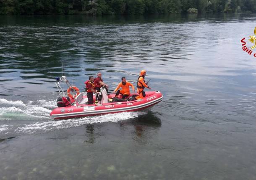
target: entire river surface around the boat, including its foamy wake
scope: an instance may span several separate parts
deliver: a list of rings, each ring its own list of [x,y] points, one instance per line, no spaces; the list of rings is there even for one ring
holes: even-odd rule
[[[0,16],[0,179],[256,179],[255,14]],[[256,50],[253,50],[256,53]],[[56,121],[55,77],[114,89],[147,71],[144,112]]]

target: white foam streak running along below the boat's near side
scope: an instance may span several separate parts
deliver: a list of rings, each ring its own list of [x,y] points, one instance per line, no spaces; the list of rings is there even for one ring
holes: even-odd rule
[[[106,114],[97,117],[84,117],[82,119],[37,122],[33,124],[27,124],[25,127],[18,127],[16,130],[22,133],[34,134],[36,132],[48,132],[56,129],[78,127],[84,124],[92,124],[97,122],[118,122],[134,117],[138,117],[138,112],[121,112],[117,114]]]

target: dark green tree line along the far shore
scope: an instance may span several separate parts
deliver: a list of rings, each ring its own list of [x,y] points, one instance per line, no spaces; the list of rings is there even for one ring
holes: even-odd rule
[[[256,0],[0,0],[0,15],[256,13]]]

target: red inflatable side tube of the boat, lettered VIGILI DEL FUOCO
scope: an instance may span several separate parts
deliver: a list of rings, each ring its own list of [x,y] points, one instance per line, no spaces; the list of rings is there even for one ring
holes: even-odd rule
[[[98,105],[78,105],[70,107],[58,107],[50,113],[54,119],[70,119],[76,117],[96,116],[101,114],[113,114],[120,112],[135,112],[148,109],[162,101],[159,91],[146,92],[146,97],[135,101],[112,102]]]

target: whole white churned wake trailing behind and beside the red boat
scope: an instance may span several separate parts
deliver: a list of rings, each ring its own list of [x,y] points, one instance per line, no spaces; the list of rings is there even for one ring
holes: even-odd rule
[[[8,101],[0,99],[0,134],[38,134],[84,124],[118,122],[138,117],[142,112],[121,112],[96,117],[53,120],[51,109],[56,100]]]

